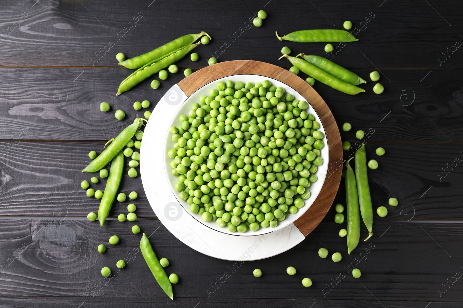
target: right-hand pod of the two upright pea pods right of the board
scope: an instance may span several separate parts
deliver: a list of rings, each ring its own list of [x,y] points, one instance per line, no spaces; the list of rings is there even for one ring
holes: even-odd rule
[[[370,187],[368,185],[367,174],[367,153],[365,145],[355,152],[355,178],[357,179],[358,201],[360,212],[362,213],[363,223],[368,229],[368,240],[373,235],[373,207],[371,205]]]

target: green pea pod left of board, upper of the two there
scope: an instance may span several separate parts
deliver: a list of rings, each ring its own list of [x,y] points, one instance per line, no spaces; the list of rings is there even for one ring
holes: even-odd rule
[[[97,172],[103,169],[127,144],[127,142],[132,139],[135,132],[137,132],[140,122],[143,121],[142,118],[137,118],[138,121],[133,121],[131,125],[125,127],[119,135],[114,138],[113,142],[101,152],[101,154],[96,157],[92,162],[88,164],[82,172]]]

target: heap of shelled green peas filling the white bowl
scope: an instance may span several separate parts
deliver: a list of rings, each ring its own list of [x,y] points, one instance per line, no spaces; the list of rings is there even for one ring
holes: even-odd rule
[[[275,228],[317,181],[320,124],[307,102],[269,80],[216,87],[170,128],[175,190],[190,211],[231,232]]]

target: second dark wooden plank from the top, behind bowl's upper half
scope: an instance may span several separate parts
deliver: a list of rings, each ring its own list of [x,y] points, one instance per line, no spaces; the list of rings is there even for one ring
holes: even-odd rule
[[[364,78],[369,70],[354,70]],[[463,89],[463,70],[387,70],[380,79],[386,90],[377,95],[369,82],[366,93],[350,96],[317,82],[314,89],[328,104],[338,126],[352,124],[341,132],[343,139],[355,139],[355,132],[375,131],[378,142],[448,143],[463,140],[458,129],[462,110],[458,93]],[[144,109],[132,108],[135,101],[150,100],[152,106],[184,76],[169,74],[159,89],[152,79],[119,97],[117,87],[126,69],[0,68],[0,139],[108,140],[120,132]],[[302,79],[307,76],[300,74]],[[100,103],[112,106],[100,112]],[[124,121],[113,113],[122,109]],[[450,140],[450,141],[449,141]]]

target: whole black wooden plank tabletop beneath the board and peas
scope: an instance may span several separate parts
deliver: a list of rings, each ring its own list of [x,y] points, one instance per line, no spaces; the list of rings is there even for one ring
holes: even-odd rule
[[[0,307],[463,307],[463,42],[461,1],[207,1],[2,0],[0,4]],[[268,18],[249,23],[258,10]],[[135,21],[136,20],[136,21]],[[116,203],[104,228],[86,216],[99,201],[80,182],[91,150],[100,151],[142,112],[132,103],[156,103],[183,69],[252,59],[288,67],[280,49],[326,56],[324,43],[280,42],[294,30],[342,29],[360,39],[331,57],[364,79],[378,70],[385,91],[348,96],[319,82],[341,132],[371,131],[367,152],[386,149],[371,170],[374,208],[389,196],[387,217],[375,214],[375,235],[347,255],[334,208],[307,239],[275,257],[241,263],[189,248],[156,219],[140,178],[126,175],[121,190],[138,191],[138,225],[156,253],[180,276],[175,301],[158,287],[137,250],[130,223],[115,220],[129,203]],[[198,62],[178,63],[159,89],[146,80],[116,97],[130,72],[115,55],[142,54],[178,36],[205,30],[213,40],[195,49]],[[335,47],[338,45],[335,44]],[[300,74],[301,78],[307,76]],[[118,121],[100,102],[122,109]],[[350,155],[344,152],[345,156]],[[459,180],[460,179],[460,180]],[[101,181],[100,189],[104,188]],[[343,182],[344,183],[344,182]],[[97,185],[97,186],[98,186]],[[345,204],[344,188],[336,203]],[[345,227],[345,223],[344,226]],[[363,234],[366,232],[362,230]],[[118,234],[119,245],[96,247]],[[343,253],[333,263],[320,247]],[[117,248],[117,249],[116,249]],[[127,266],[117,272],[117,260]],[[355,279],[350,266],[361,269]],[[109,265],[111,279],[100,275]],[[295,266],[296,276],[285,273]],[[252,275],[254,268],[261,278]],[[313,281],[310,288],[301,279]]]

